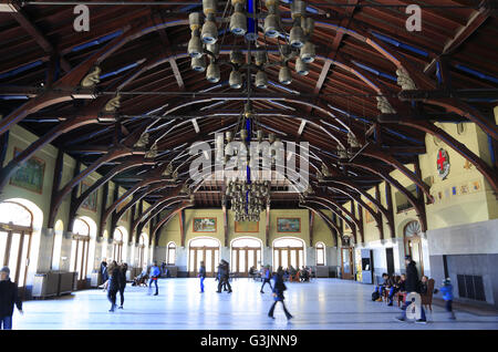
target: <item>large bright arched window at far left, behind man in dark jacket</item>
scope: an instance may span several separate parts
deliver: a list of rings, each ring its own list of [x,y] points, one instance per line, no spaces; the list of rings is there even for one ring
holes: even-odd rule
[[[8,266],[10,278],[24,288],[30,263],[33,215],[14,201],[0,203],[0,265]]]

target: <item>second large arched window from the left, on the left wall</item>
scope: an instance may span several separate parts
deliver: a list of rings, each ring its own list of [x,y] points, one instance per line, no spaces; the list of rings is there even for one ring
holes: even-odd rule
[[[90,225],[77,218],[73,225],[73,240],[71,246],[70,270],[77,271],[79,288],[84,286],[86,280],[90,246]]]

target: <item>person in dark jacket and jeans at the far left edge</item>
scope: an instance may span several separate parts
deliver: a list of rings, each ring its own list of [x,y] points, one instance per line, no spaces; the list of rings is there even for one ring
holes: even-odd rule
[[[18,296],[18,286],[10,281],[10,269],[3,267],[0,270],[0,329],[12,329],[13,306],[22,314],[22,302]]]

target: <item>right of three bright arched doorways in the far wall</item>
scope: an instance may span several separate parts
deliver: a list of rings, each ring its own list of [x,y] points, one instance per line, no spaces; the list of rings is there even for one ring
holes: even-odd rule
[[[299,269],[304,266],[304,241],[299,238],[279,238],[273,241],[273,269]]]

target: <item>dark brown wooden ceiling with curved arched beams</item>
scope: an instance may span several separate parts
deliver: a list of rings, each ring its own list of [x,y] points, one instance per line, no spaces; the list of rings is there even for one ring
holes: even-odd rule
[[[186,6],[187,2],[193,6]],[[221,66],[221,81],[217,85],[208,83],[204,73],[190,69],[186,55],[190,37],[187,17],[191,11],[200,11],[201,1],[185,3],[91,6],[91,30],[81,33],[73,30],[75,15],[70,6],[27,4],[17,6],[13,13],[0,12],[0,114],[13,118],[30,106],[27,104],[41,100],[48,92],[74,93],[87,73],[82,66],[97,59],[102,77],[94,91],[96,100],[63,99],[37,105],[15,123],[43,137],[66,121],[91,116],[91,123],[69,127],[51,141],[84,165],[102,158],[111,145],[116,147],[116,141],[127,141],[127,147],[132,147],[144,128],[154,124],[149,141],[163,137],[154,163],[137,164],[110,177],[132,189],[144,175],[177,157],[181,146],[212,138],[215,131],[232,126],[243,107],[242,99],[224,100],[245,96],[241,90],[228,87],[228,66]],[[496,149],[497,131],[491,111],[498,100],[498,20],[494,1],[425,0],[421,2],[421,32],[405,29],[407,4],[408,1],[401,0],[313,1],[312,8],[318,13],[310,15],[317,23],[312,41],[318,58],[310,64],[309,75],[299,76],[293,72],[293,82],[282,89],[278,84],[278,70],[271,68],[267,73],[277,84],[270,84],[267,90],[253,89],[253,95],[261,97],[253,106],[262,130],[277,131],[283,141],[310,142],[317,157],[315,167],[324,163],[336,179],[350,177],[359,193],[383,180],[369,168],[387,174],[397,165],[416,163],[417,155],[425,153],[425,134],[440,132],[434,127],[435,121],[477,118],[487,128]],[[284,2],[281,11],[289,11]],[[261,33],[258,42],[276,44]],[[221,51],[227,53],[231,45],[242,44],[240,39],[227,34]],[[270,59],[276,59],[274,53],[270,53]],[[398,99],[402,87],[396,82],[396,70],[400,68],[406,69],[418,90],[424,90],[418,93],[425,94],[425,102]],[[73,76],[80,77],[76,83],[68,79]],[[64,84],[60,84],[61,79],[65,80]],[[117,90],[122,99],[114,115],[116,122],[98,121],[102,104],[114,97],[113,92]],[[378,123],[377,94],[388,96],[398,113],[391,118],[401,118],[400,123]],[[263,100],[268,96],[274,101]],[[442,106],[433,104],[434,100],[455,96],[461,103],[456,112],[443,103]],[[193,118],[199,133],[188,122]],[[302,121],[305,125],[300,132]],[[4,134],[10,126],[3,121],[0,133]],[[336,153],[338,144],[347,141],[347,130],[363,143],[371,143],[351,165],[341,163]],[[496,165],[486,165],[457,141],[445,141],[479,166],[496,189]],[[125,159],[114,158],[96,165],[95,169],[106,175]],[[3,178],[6,175],[7,172]],[[344,193],[320,186],[315,173],[312,176],[313,187],[328,193],[338,204],[351,199]],[[279,190],[283,189],[274,189],[272,207],[298,206],[297,194],[283,195]],[[158,188],[143,199],[154,204],[162,193],[164,189]],[[220,188],[200,187],[195,199],[198,207],[219,207]]]

